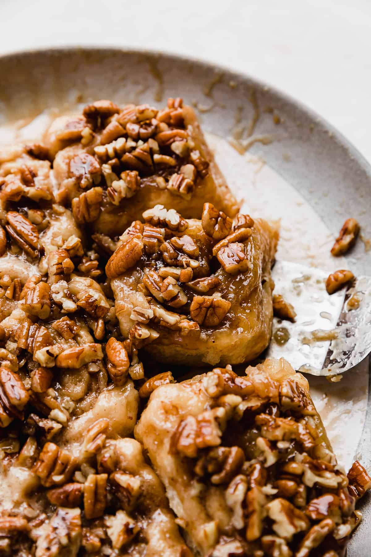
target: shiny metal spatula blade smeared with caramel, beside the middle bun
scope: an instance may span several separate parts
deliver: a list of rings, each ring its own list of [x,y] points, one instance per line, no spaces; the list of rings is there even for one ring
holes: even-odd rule
[[[303,373],[338,375],[371,352],[371,277],[329,295],[326,271],[278,261],[272,274],[274,293],[297,315],[294,323],[274,317],[267,356],[284,357]]]

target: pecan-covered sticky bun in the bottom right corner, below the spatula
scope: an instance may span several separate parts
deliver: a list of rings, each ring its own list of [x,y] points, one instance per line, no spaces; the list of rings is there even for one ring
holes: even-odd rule
[[[356,469],[371,485],[359,463],[348,477],[337,465],[308,382],[283,359],[161,385],[135,437],[202,556],[343,555]]]

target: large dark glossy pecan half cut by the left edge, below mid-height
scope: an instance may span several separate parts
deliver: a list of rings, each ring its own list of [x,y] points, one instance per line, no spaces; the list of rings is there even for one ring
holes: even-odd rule
[[[0,425],[6,427],[12,418],[23,418],[29,395],[22,379],[8,367],[0,367]]]

